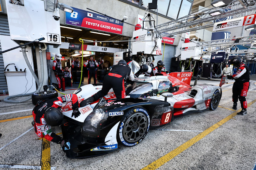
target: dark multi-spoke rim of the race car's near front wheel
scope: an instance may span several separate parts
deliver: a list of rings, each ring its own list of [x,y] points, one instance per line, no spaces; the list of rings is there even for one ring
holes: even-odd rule
[[[148,120],[142,113],[132,114],[124,124],[124,138],[128,142],[139,140],[147,130]]]

